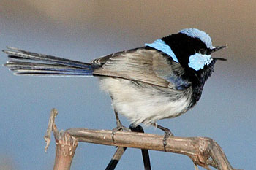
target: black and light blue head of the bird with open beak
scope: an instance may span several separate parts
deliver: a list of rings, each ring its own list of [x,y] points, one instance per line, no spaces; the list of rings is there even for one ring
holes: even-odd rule
[[[227,45],[214,47],[211,37],[197,28],[183,29],[178,34],[165,36],[146,46],[170,55],[173,61],[195,72],[206,69],[212,61],[225,60],[224,58],[211,58],[211,53],[227,47]]]

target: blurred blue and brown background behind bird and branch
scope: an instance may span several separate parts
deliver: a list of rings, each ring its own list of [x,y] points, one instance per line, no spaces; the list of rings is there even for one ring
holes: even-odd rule
[[[161,120],[176,136],[216,140],[236,169],[255,169],[256,1],[0,1],[0,49],[6,45],[78,61],[141,47],[183,28],[210,34],[218,62],[197,106]],[[7,61],[1,53],[0,63]],[[110,97],[96,78],[16,77],[0,66],[0,169],[53,169],[55,144],[44,152],[50,109],[59,129],[112,129]],[[129,126],[125,117],[124,125]],[[155,128],[146,133],[163,134]],[[72,169],[105,169],[115,147],[80,143]],[[150,151],[152,169],[194,169],[187,156]],[[143,169],[127,149],[116,169]]]

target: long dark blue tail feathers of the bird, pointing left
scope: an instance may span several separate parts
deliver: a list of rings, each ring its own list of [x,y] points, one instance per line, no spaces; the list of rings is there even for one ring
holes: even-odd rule
[[[10,61],[4,64],[17,75],[89,77],[97,66],[51,55],[31,53],[14,47],[3,50]]]

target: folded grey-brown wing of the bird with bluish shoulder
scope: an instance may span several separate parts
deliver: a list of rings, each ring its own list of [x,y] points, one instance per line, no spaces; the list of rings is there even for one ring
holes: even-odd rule
[[[91,61],[102,66],[94,70],[96,75],[121,77],[165,88],[181,87],[180,84],[184,82],[181,82],[178,72],[182,74],[184,71],[179,63],[173,65],[170,62],[174,63],[159,51],[142,48],[114,53]]]

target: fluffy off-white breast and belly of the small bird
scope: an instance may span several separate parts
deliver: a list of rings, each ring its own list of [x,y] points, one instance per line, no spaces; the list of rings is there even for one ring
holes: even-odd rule
[[[189,109],[192,100],[192,88],[173,90],[111,77],[100,80],[101,88],[113,98],[113,108],[134,125],[150,125],[181,115]]]

